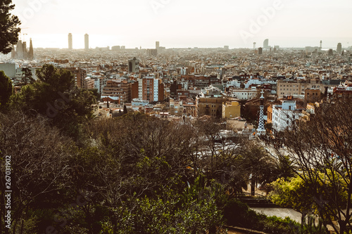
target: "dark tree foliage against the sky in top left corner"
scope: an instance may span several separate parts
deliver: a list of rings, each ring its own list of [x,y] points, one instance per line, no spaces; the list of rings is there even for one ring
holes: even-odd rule
[[[17,16],[11,15],[10,11],[15,8],[11,0],[0,2],[0,53],[10,53],[12,45],[18,41],[20,33],[20,20]]]

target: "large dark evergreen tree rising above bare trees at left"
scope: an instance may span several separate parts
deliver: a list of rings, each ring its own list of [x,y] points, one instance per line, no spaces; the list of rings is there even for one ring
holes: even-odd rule
[[[45,115],[70,136],[77,136],[80,124],[92,114],[96,103],[93,93],[78,89],[70,71],[53,65],[43,65],[37,70],[37,77],[37,82],[24,86],[13,96],[13,106],[27,114]]]

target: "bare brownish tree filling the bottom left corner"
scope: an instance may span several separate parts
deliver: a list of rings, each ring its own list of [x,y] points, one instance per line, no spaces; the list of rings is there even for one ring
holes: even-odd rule
[[[61,203],[73,143],[46,124],[44,118],[12,111],[0,114],[0,123],[1,188],[5,188],[4,159],[11,158],[11,233],[38,233],[23,228],[35,218],[31,215],[33,209],[49,209]],[[0,213],[4,216],[2,189],[0,196]],[[0,227],[4,227],[3,223]]]

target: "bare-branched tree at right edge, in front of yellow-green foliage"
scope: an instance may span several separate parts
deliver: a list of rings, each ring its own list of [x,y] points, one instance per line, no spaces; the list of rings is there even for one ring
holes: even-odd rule
[[[279,157],[289,155],[297,176],[312,188],[310,197],[324,205],[320,218],[336,220],[344,233],[351,226],[352,209],[352,96],[342,96],[315,108],[308,122],[294,122],[282,136],[285,148]],[[341,193],[341,190],[344,193]],[[344,194],[346,197],[341,197]],[[325,202],[318,197],[325,195]]]

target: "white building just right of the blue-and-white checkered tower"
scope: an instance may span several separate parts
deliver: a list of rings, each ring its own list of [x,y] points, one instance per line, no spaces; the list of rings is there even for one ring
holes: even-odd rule
[[[282,105],[272,105],[272,129],[275,133],[284,131],[301,115],[302,112],[296,109],[295,100],[284,100]]]

